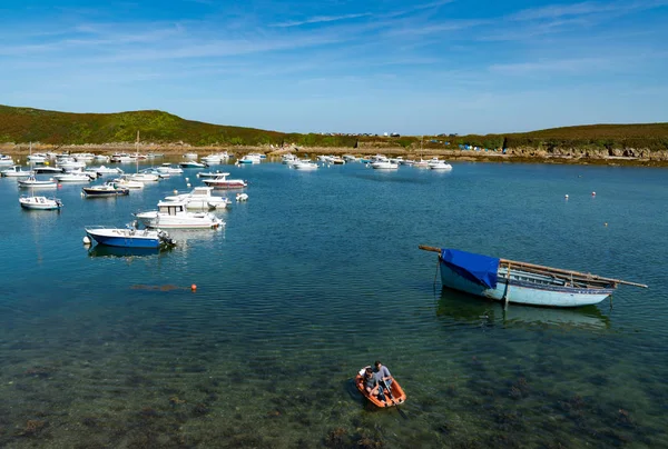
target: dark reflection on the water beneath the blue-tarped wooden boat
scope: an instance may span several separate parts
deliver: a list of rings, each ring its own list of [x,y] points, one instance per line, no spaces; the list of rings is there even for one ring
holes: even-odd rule
[[[438,293],[436,293],[438,295]],[[436,316],[484,326],[537,327],[601,330],[610,327],[609,318],[597,306],[578,309],[552,309],[509,305],[485,300],[444,287],[436,298]]]

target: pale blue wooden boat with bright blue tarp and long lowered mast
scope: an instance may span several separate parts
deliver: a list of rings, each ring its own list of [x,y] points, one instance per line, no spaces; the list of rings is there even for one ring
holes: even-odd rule
[[[601,302],[621,283],[647,288],[642,283],[456,249],[424,245],[419,248],[439,253],[444,287],[507,305],[581,307]]]

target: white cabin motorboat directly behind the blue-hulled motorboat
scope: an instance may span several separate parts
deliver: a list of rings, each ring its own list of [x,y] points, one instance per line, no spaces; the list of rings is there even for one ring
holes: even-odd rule
[[[160,201],[158,210],[136,213],[147,228],[205,229],[219,228],[225,221],[210,212],[188,212],[185,201]]]

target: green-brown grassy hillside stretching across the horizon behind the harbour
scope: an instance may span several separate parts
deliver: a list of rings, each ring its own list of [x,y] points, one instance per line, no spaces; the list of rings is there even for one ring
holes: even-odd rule
[[[355,137],[299,134],[254,128],[228,127],[184,120],[163,111],[118,113],[70,113],[0,106],[0,142],[29,141],[52,144],[132,142],[137,130],[141,141],[178,142],[193,146],[259,146],[296,143],[304,147],[420,147],[420,137]],[[591,124],[532,132],[485,136],[428,137],[424,148],[647,148],[668,150],[668,123]],[[445,144],[449,142],[449,144]]]

